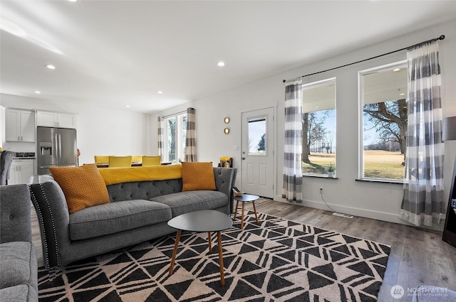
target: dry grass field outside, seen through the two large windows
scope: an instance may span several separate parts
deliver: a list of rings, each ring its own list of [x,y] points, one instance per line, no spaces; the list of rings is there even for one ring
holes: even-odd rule
[[[326,174],[326,166],[336,163],[336,154],[311,153],[311,163],[302,164],[303,173]],[[402,179],[404,173],[403,154],[399,152],[367,150],[364,151],[364,176],[371,178]],[[336,164],[337,173],[337,164]]]

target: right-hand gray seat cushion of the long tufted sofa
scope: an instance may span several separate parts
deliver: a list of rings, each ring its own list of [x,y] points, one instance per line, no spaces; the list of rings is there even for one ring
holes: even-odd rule
[[[150,200],[163,203],[171,208],[172,217],[187,212],[215,210],[228,204],[228,196],[219,191],[198,190],[167,194]]]

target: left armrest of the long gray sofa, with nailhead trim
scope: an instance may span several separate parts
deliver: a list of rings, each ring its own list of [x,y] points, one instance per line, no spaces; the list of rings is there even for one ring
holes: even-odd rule
[[[66,198],[50,175],[33,176],[29,187],[41,230],[46,269],[53,269],[61,266],[60,250],[71,244]]]

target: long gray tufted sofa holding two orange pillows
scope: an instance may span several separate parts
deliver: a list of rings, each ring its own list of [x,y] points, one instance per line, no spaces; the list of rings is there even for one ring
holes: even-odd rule
[[[182,178],[107,185],[110,203],[69,214],[52,176],[34,176],[31,199],[48,270],[175,232],[172,217],[197,210],[232,212],[235,168],[214,168],[216,190],[182,192]]]

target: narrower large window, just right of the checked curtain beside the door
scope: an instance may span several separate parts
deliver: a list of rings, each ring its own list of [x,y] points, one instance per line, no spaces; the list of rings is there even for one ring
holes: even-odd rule
[[[336,166],[336,78],[303,85],[302,173],[326,175]]]

